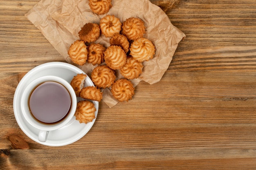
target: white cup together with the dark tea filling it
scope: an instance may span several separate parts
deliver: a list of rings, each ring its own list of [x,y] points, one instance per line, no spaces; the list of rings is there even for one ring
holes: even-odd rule
[[[47,140],[48,132],[69,123],[76,111],[76,94],[65,79],[43,76],[23,91],[22,114],[31,126],[39,129],[38,139]]]

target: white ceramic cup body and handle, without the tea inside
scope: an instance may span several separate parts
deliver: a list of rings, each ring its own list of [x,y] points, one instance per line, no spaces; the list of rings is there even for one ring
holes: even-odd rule
[[[63,85],[67,89],[68,93],[70,94],[70,98],[71,98],[70,109],[67,115],[56,123],[43,123],[38,121],[31,114],[29,109],[29,98],[31,96],[31,93],[35,90],[36,87],[38,87],[40,84],[44,82],[57,82]],[[57,130],[65,126],[74,117],[74,114],[76,111],[77,99],[76,99],[76,94],[74,92],[74,89],[72,88],[69,82],[67,82],[65,79],[62,79],[61,77],[48,75],[48,76],[39,77],[33,80],[31,83],[29,83],[29,85],[25,88],[25,90],[22,93],[20,102],[21,102],[21,109],[22,109],[23,116],[31,126],[39,129],[38,140],[41,142],[45,142],[47,140],[49,131]]]

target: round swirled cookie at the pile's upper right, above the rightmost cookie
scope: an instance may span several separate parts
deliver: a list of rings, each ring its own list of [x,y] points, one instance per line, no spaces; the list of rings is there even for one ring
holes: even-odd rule
[[[124,21],[122,25],[121,33],[125,35],[128,40],[136,40],[138,38],[143,37],[146,32],[146,27],[144,26],[144,22],[135,17],[128,18]]]

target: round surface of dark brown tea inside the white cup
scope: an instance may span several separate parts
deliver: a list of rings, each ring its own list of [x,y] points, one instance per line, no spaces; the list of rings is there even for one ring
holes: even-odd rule
[[[44,82],[37,86],[29,98],[31,114],[44,123],[54,123],[69,112],[71,97],[67,89],[57,82]]]

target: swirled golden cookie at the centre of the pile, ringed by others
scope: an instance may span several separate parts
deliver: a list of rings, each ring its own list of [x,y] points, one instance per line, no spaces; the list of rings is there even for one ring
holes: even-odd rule
[[[104,60],[111,69],[118,70],[126,63],[126,53],[121,46],[109,46],[104,52]]]

